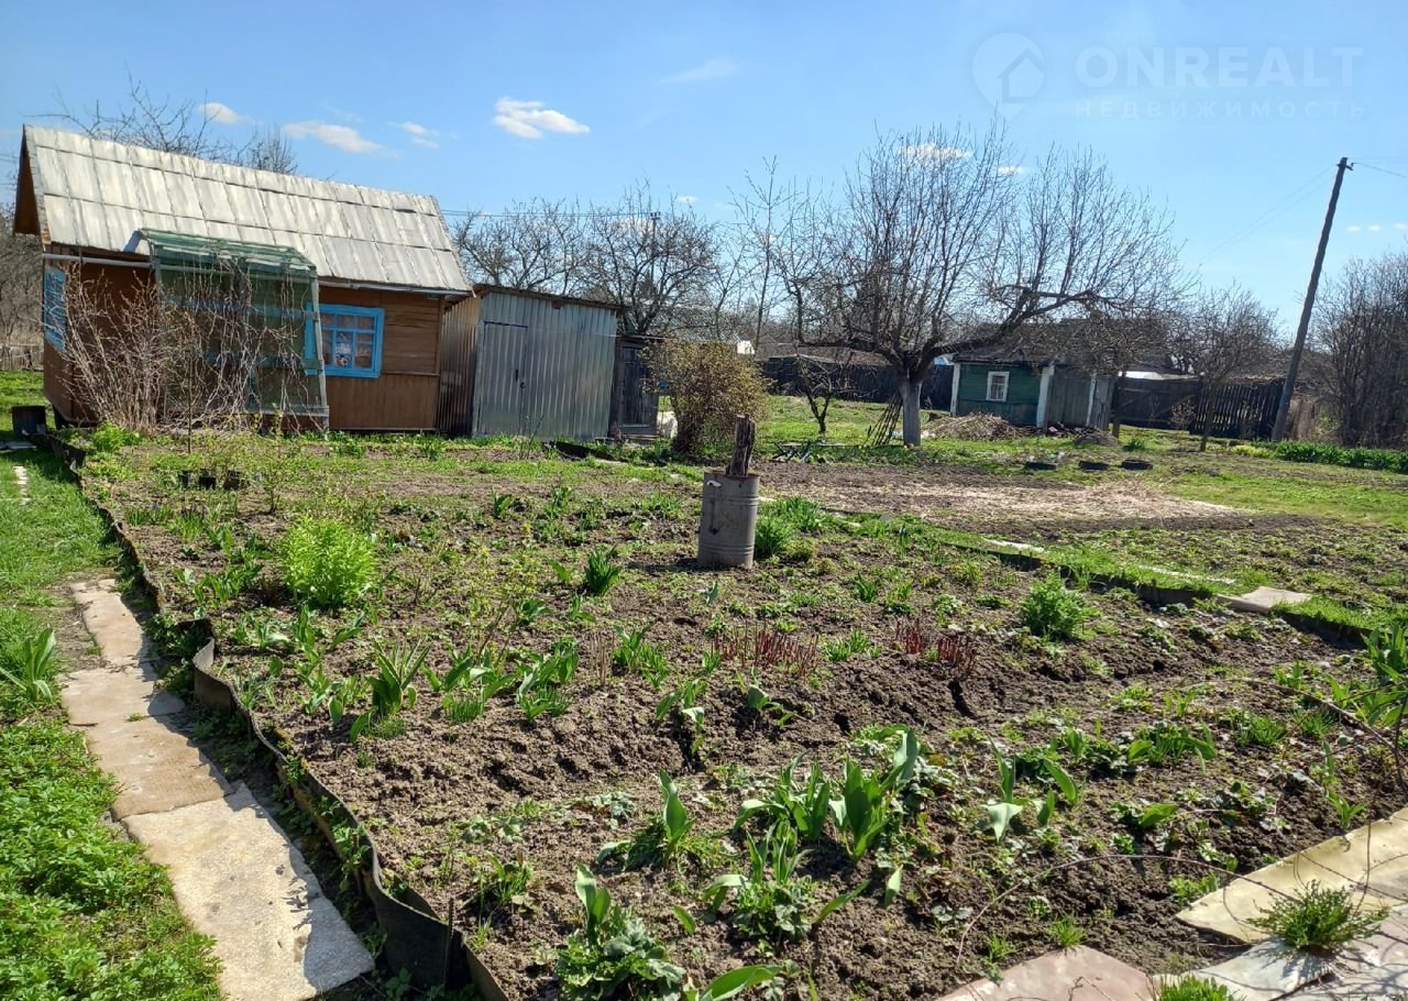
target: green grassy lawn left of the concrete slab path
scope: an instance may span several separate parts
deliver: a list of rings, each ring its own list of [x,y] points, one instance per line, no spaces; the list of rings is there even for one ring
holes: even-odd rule
[[[13,463],[30,473],[28,505]],[[54,588],[114,559],[61,463],[0,459],[0,669],[34,667],[28,686],[0,679],[0,997],[215,1001],[208,942],[186,926],[161,867],[104,819],[117,791],[63,724],[59,665],[25,649],[55,618]]]

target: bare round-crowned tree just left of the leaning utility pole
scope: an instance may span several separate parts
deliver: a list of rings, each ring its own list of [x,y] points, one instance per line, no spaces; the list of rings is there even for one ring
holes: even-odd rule
[[[1215,390],[1271,355],[1276,314],[1238,286],[1205,291],[1180,317],[1170,348],[1176,363],[1202,380],[1204,391]],[[1207,451],[1211,434],[1211,421],[1204,421],[1200,451]]]

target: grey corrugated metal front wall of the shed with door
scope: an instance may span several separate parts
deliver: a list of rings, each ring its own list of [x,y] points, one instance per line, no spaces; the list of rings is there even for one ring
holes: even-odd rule
[[[487,293],[476,325],[470,434],[604,438],[615,334],[608,308]]]

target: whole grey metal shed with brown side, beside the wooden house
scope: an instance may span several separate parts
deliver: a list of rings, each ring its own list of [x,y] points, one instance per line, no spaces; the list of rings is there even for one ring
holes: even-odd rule
[[[618,380],[614,306],[501,286],[445,318],[439,427],[489,438],[605,438]],[[653,427],[653,407],[652,407]]]

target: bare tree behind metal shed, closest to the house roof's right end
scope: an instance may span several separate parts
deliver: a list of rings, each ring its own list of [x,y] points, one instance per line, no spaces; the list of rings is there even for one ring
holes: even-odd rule
[[[455,227],[465,270],[480,282],[569,296],[583,280],[586,213],[574,201],[517,201]]]

